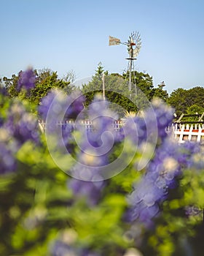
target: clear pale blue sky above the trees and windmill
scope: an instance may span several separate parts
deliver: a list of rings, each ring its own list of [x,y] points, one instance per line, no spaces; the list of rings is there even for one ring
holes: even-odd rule
[[[89,78],[98,63],[109,72],[127,69],[125,45],[109,46],[109,35],[126,42],[141,34],[135,62],[140,72],[178,87],[204,86],[203,0],[0,0],[0,76],[28,66],[62,77]]]

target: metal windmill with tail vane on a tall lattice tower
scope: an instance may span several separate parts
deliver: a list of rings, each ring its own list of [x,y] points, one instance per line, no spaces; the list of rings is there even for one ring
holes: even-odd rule
[[[127,42],[121,42],[120,39],[116,37],[109,36],[109,45],[127,45],[127,52],[129,53],[129,57],[126,58],[128,60],[128,67],[129,70],[129,86],[128,89],[131,91],[132,89],[132,71],[134,71],[134,61],[136,60],[136,56],[141,49],[141,37],[138,32],[134,31],[130,34]],[[137,93],[137,92],[136,92]]]

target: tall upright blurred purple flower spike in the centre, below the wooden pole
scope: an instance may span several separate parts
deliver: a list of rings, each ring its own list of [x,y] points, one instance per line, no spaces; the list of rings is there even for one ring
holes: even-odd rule
[[[92,131],[78,126],[82,140],[78,142],[80,150],[76,155],[77,163],[71,171],[76,179],[69,181],[68,186],[75,195],[86,196],[90,205],[97,203],[101,197],[105,184],[103,167],[109,164],[109,154],[115,143],[116,132],[113,124],[116,116],[108,106],[108,102],[96,97],[89,109]]]

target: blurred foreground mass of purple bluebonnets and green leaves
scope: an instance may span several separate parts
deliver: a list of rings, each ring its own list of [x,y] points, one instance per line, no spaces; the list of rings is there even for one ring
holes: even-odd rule
[[[41,132],[28,99],[0,100],[1,255],[202,255],[203,147],[166,131],[171,108],[154,100],[116,131],[95,97],[85,129],[84,97],[52,89]]]

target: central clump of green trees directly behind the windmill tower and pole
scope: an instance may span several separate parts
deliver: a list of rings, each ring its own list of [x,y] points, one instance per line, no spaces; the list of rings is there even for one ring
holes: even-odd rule
[[[138,112],[138,110],[148,108],[149,101],[153,97],[160,98],[164,101],[168,99],[168,93],[162,86],[154,88],[152,77],[149,74],[136,71],[132,72],[131,91],[129,91],[129,72],[123,72],[122,75],[117,73],[109,74],[108,71],[104,71],[100,62],[90,83],[84,84],[82,87],[82,92],[87,99],[86,105],[92,102],[95,92],[103,93],[103,74],[105,75],[106,99],[114,103],[110,108],[117,111],[119,117],[124,116],[122,109],[127,110],[127,112]]]

